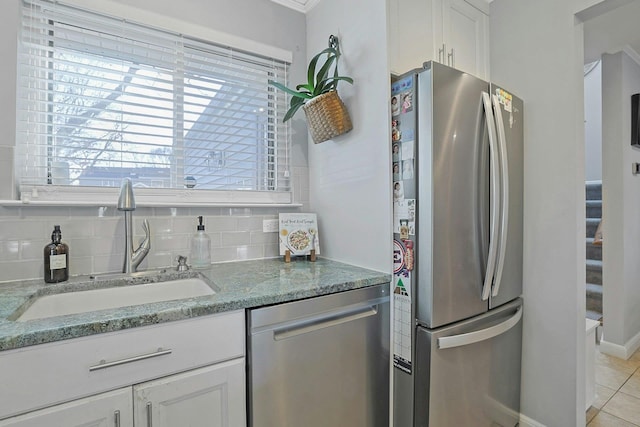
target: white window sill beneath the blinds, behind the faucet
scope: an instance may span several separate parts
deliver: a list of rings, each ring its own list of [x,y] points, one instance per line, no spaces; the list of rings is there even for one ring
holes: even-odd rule
[[[116,206],[119,188],[37,185],[20,187],[20,200],[0,206]],[[300,207],[291,192],[134,188],[138,207]]]

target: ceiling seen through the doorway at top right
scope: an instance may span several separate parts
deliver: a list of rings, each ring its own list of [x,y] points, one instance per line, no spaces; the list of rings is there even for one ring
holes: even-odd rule
[[[640,0],[620,6],[584,24],[584,61],[600,59],[603,53],[616,53],[626,47],[640,58]]]

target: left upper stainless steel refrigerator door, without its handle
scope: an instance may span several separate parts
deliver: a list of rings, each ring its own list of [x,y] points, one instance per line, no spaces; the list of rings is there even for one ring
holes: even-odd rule
[[[435,328],[488,309],[489,84],[437,63],[418,77],[417,305]]]

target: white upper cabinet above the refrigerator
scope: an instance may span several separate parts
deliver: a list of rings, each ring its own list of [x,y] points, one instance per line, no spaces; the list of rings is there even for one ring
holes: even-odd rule
[[[489,79],[489,5],[484,0],[388,0],[391,71],[434,60]]]

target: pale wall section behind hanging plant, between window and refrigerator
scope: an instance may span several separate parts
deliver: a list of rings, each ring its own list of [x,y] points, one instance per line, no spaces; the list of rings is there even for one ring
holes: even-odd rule
[[[321,144],[309,141],[311,207],[318,213],[323,255],[391,271],[390,81],[384,0],[323,0],[307,14],[307,52],[339,37],[338,92],[353,130]]]

